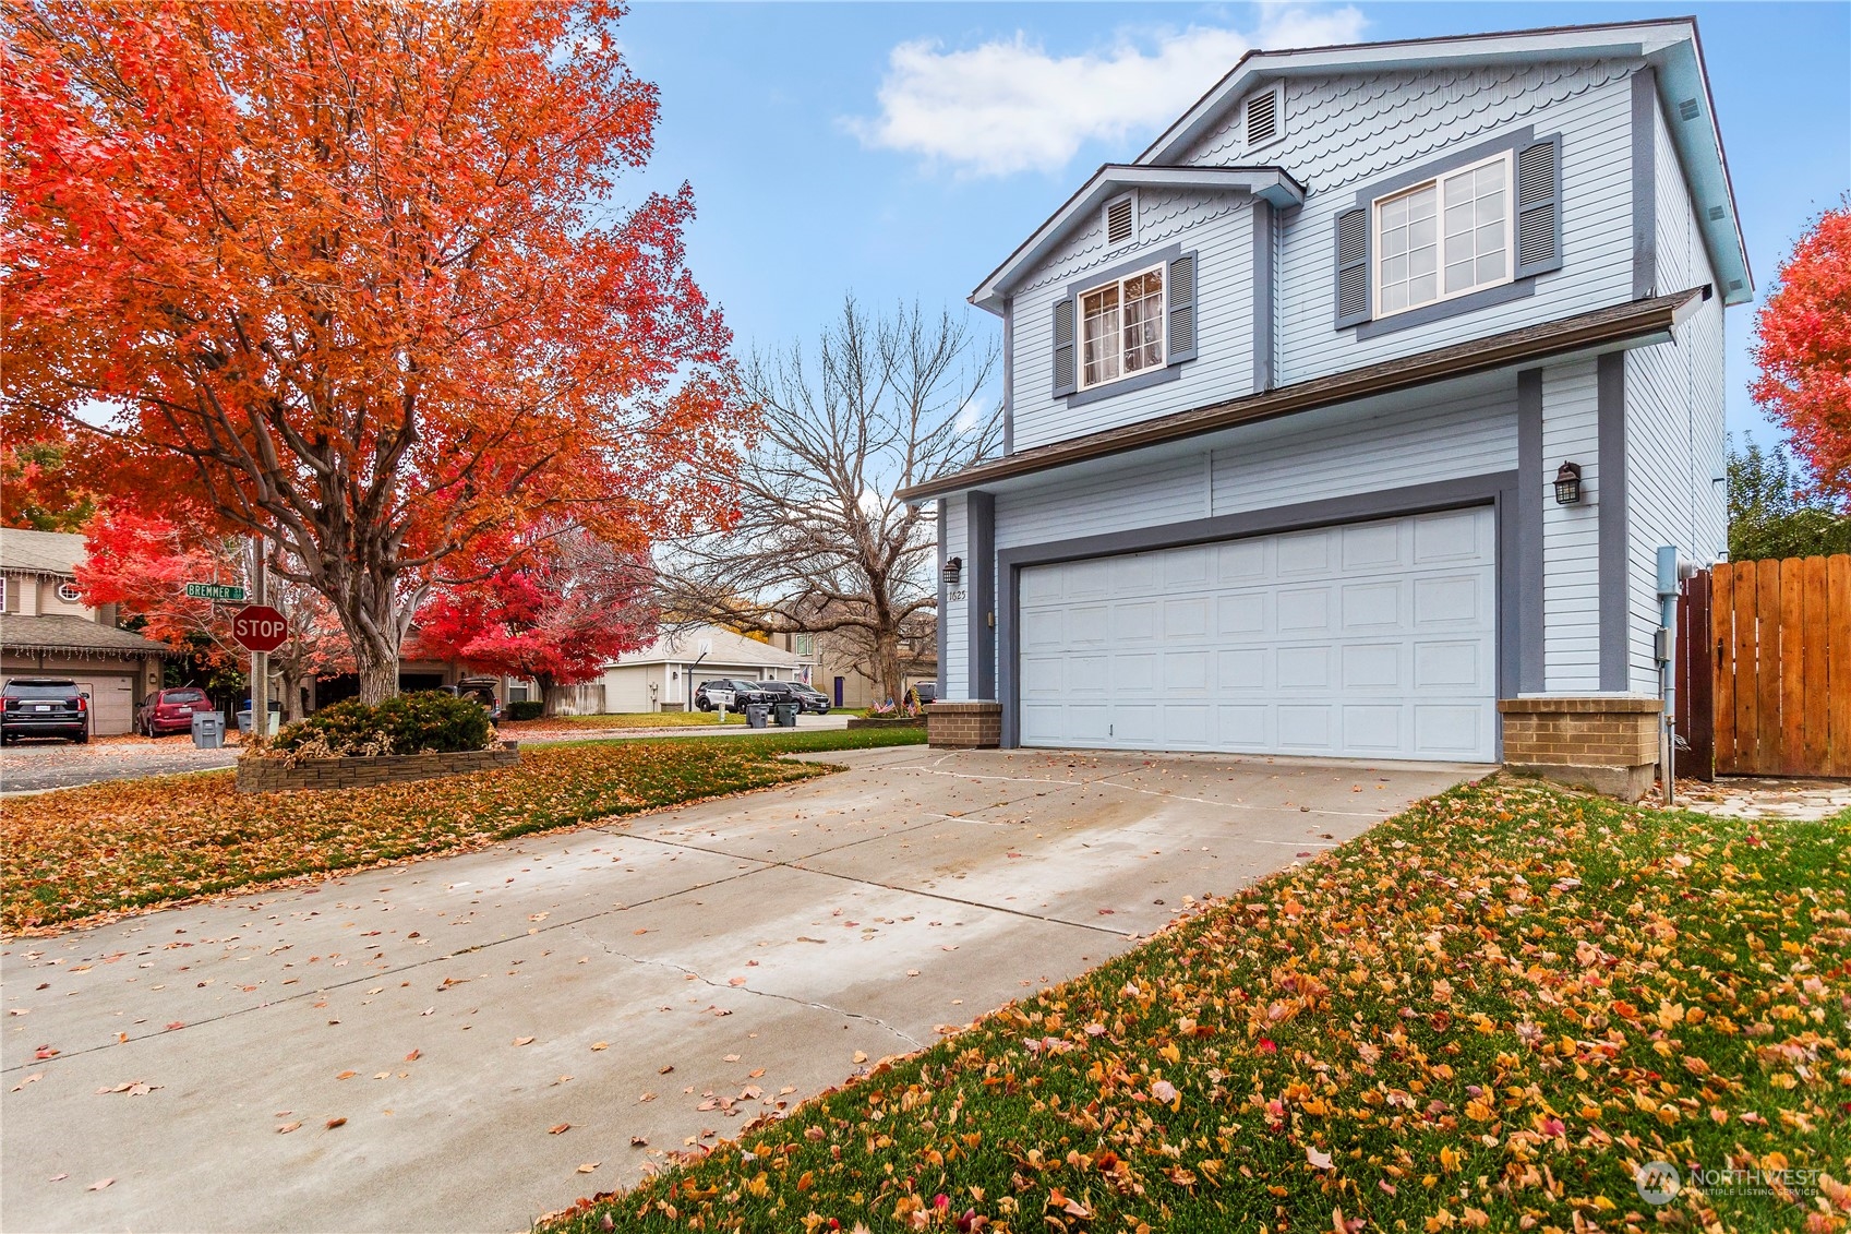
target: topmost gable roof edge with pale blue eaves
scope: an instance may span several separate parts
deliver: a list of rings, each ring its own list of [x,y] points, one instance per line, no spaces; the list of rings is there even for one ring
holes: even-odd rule
[[[1248,52],[1225,78],[1183,113],[1183,119],[1153,141],[1137,163],[1153,167],[1175,163],[1248,93],[1279,78],[1534,63],[1568,56],[1640,57],[1655,69],[1666,128],[1690,183],[1703,245],[1721,282],[1718,291],[1723,293],[1723,304],[1751,300],[1755,276],[1742,241],[1734,187],[1729,183],[1729,157],[1723,154],[1721,130],[1716,126],[1716,106],[1694,17]],[[1721,208],[1720,217],[1710,215],[1716,208]]]

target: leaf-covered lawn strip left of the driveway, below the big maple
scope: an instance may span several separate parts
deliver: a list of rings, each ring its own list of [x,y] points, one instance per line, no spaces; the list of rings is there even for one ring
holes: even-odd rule
[[[783,754],[922,741],[785,732],[533,747],[446,780],[239,793],[233,773],[115,780],[0,800],[0,926],[96,913],[468,849],[511,836],[785,784],[829,771]]]

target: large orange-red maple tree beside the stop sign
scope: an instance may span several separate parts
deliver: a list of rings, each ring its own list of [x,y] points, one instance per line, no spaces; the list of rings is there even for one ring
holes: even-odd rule
[[[117,408],[106,497],[263,537],[366,700],[500,528],[640,547],[722,515],[748,408],[689,187],[613,200],[657,111],[620,15],[7,6],[9,435]]]

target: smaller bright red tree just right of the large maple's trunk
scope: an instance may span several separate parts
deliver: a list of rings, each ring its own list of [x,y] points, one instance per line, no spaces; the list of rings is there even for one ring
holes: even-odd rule
[[[583,532],[553,535],[481,582],[446,587],[418,610],[416,652],[537,682],[546,710],[563,686],[589,682],[655,637],[646,558]]]

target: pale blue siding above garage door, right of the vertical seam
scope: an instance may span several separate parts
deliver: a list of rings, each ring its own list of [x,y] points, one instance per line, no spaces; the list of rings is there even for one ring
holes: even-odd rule
[[[1316,419],[1314,419],[1316,417]],[[1516,385],[1412,411],[1312,413],[1214,450],[1214,513],[1292,506],[1516,467]],[[1264,435],[1262,435],[1264,434]]]

